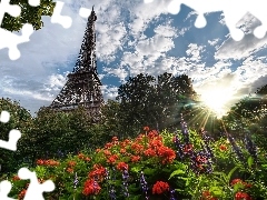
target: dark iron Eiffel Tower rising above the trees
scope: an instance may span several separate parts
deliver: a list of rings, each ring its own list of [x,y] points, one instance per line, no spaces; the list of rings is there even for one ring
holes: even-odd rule
[[[96,61],[96,20],[92,7],[73,71],[67,76],[67,83],[49,107],[57,111],[70,112],[81,106],[95,122],[100,119],[103,104],[100,89],[102,84],[98,78]]]

